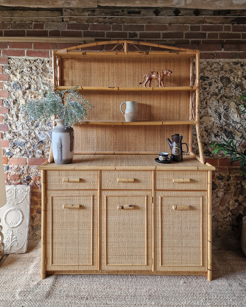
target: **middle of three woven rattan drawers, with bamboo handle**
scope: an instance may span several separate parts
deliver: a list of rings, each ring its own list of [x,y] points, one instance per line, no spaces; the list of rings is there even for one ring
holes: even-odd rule
[[[112,171],[101,172],[102,190],[151,190],[151,171]]]

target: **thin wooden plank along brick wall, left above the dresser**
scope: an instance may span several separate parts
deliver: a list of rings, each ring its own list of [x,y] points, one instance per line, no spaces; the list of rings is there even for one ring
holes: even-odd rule
[[[77,45],[87,44],[94,41],[94,38],[90,37],[2,37],[0,36],[0,42],[31,42],[31,43],[74,43]]]

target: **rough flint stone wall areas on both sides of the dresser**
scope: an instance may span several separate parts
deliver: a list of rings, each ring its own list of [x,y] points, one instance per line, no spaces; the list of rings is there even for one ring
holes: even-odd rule
[[[3,140],[10,141],[4,150],[8,158],[7,185],[31,185],[30,239],[41,237],[41,180],[37,166],[13,165],[10,158],[47,158],[50,150],[51,122],[41,124],[30,122],[21,108],[28,99],[38,97],[38,93],[52,82],[52,61],[50,59],[9,58],[3,67],[9,74],[3,90],[9,91],[4,107],[9,114],[3,118],[8,131]],[[204,153],[214,158],[209,142],[221,142],[236,138],[241,148],[245,138],[245,117],[241,114],[240,95],[246,93],[246,62],[200,61],[200,123]],[[198,153],[194,130],[193,151]],[[224,158],[223,153],[217,157]],[[220,160],[219,160],[220,161]],[[222,161],[222,160],[221,160]],[[242,216],[246,215],[246,182],[242,180],[239,168],[217,167],[213,174],[213,240],[217,245],[239,242]],[[213,247],[215,247],[213,245]]]

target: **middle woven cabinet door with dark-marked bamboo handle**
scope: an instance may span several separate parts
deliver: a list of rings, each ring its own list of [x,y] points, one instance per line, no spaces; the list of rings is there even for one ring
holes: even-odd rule
[[[151,270],[151,232],[151,191],[101,191],[101,270]]]

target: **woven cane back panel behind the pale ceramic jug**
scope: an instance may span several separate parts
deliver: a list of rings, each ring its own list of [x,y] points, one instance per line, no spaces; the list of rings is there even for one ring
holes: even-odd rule
[[[90,103],[87,120],[120,121],[124,101],[137,101],[137,121],[189,120],[190,92],[188,91],[83,91]],[[125,111],[125,104],[122,106]]]

